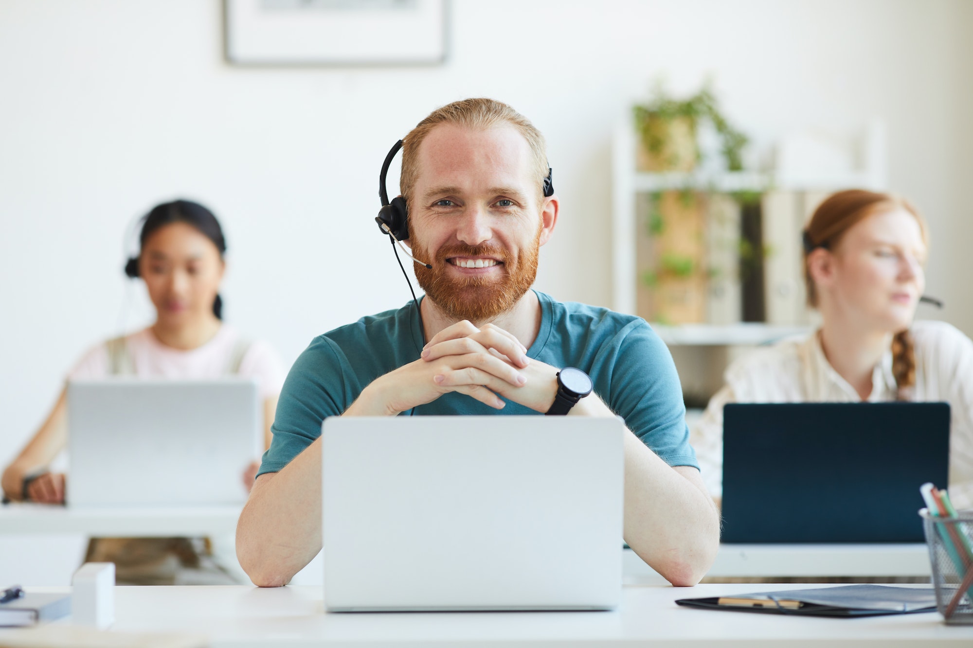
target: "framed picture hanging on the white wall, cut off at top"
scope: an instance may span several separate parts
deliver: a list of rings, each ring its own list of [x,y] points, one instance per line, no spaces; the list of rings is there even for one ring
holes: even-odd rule
[[[234,65],[438,65],[448,0],[224,0]]]

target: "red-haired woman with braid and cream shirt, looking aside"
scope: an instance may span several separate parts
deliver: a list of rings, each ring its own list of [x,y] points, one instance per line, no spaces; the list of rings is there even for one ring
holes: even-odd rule
[[[946,322],[913,321],[925,289],[925,221],[902,198],[849,190],[821,203],[804,237],[808,303],[821,327],[727,370],[693,430],[710,493],[722,495],[727,403],[947,401],[950,496],[973,506],[973,342]]]

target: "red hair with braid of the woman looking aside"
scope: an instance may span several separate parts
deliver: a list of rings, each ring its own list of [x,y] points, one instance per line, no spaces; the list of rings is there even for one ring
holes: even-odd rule
[[[808,265],[811,252],[818,247],[835,249],[842,236],[855,224],[872,214],[890,209],[904,209],[912,214],[919,223],[922,242],[928,245],[925,219],[905,198],[849,189],[832,194],[817,206],[804,230],[804,281],[808,290],[808,306],[817,306],[817,287]],[[899,331],[892,338],[892,375],[899,389],[899,398],[902,399],[904,390],[916,384],[916,352],[908,329]]]

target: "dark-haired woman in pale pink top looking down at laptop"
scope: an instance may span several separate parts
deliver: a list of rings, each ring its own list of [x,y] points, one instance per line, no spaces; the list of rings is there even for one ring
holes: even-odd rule
[[[270,424],[283,368],[268,344],[247,341],[222,320],[219,289],[227,246],[216,217],[189,200],[157,205],[143,219],[139,244],[139,255],[128,261],[126,274],[145,281],[156,307],[155,323],[97,344],[69,372],[68,378],[256,378],[264,403],[265,442],[270,445]],[[49,503],[64,500],[65,476],[47,468],[65,448],[67,434],[67,402],[62,391],[47,420],[3,473],[3,490],[9,498]],[[256,474],[257,457],[254,459],[254,464],[241,475],[247,487],[253,484]],[[100,541],[101,549],[106,547],[105,542]],[[98,544],[92,543],[89,558],[99,558],[100,554],[91,556]],[[134,547],[144,554],[144,545],[128,543],[125,547]],[[188,545],[168,545],[181,552],[180,559],[193,562]],[[133,559],[137,562],[140,558]],[[122,565],[118,566],[121,581]]]

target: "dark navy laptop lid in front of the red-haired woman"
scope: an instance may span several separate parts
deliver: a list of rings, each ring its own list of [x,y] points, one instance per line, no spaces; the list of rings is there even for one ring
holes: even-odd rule
[[[948,403],[727,405],[722,541],[923,542],[949,460]]]

